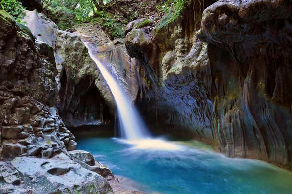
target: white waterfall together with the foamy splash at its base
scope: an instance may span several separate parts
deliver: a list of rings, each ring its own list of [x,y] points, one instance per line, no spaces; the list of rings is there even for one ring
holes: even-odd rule
[[[125,139],[123,141],[135,145],[134,148],[136,149],[182,150],[183,147],[180,145],[151,137],[139,113],[119,86],[118,81],[97,58],[94,53],[94,47],[91,47],[86,41],[83,41],[83,43],[88,48],[90,57],[97,65],[115,98],[119,117],[119,130],[122,138]]]

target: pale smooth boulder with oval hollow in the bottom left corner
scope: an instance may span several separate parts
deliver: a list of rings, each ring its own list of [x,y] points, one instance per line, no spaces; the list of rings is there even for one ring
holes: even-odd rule
[[[113,194],[102,176],[65,154],[50,159],[16,157],[1,161],[0,177],[0,193]]]

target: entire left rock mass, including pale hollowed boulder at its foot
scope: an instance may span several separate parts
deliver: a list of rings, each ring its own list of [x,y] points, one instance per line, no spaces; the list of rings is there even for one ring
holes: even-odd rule
[[[58,114],[50,49],[0,10],[0,193],[111,194],[111,171],[75,150]]]

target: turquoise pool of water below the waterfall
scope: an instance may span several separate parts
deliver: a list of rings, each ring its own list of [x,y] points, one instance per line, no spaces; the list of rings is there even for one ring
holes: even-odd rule
[[[83,138],[114,174],[132,179],[147,193],[292,194],[292,173],[266,162],[231,159],[196,141],[175,142],[182,150],[133,149],[114,138]]]

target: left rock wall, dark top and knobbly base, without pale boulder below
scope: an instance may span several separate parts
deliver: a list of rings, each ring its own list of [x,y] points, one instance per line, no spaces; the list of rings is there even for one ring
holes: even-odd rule
[[[7,13],[0,22],[0,158],[50,158],[74,149],[74,136],[50,108],[57,101],[55,64]]]

